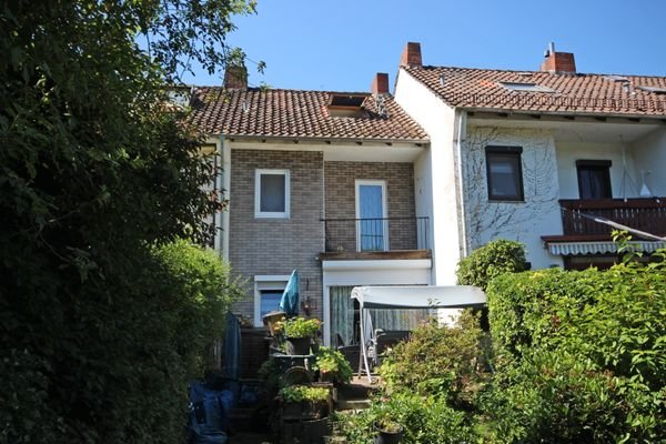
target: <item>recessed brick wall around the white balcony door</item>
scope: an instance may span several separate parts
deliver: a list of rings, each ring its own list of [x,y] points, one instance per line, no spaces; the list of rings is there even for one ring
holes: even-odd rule
[[[412,163],[381,162],[325,162],[326,216],[325,219],[356,218],[357,179],[386,181],[389,218],[415,218],[414,167]],[[356,251],[353,222],[330,222],[329,238],[333,250]],[[416,221],[414,219],[389,222],[390,250],[416,249]]]

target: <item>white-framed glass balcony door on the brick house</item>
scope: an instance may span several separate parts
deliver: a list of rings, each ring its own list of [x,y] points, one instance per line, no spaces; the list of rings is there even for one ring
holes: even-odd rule
[[[387,251],[385,181],[356,181],[356,250]]]

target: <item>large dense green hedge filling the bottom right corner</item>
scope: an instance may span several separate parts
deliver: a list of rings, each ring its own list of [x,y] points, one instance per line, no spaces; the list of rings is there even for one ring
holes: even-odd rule
[[[487,295],[501,356],[490,412],[505,441],[666,436],[663,260],[503,275]]]

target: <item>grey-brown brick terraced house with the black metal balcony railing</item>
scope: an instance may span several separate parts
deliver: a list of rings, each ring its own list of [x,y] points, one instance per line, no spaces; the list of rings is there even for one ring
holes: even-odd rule
[[[325,343],[354,341],[352,286],[431,283],[431,222],[414,179],[428,138],[386,74],[370,92],[324,92],[248,88],[231,70],[191,105],[221,153],[230,205],[216,248],[249,279],[235,309],[255,327],[294,269],[301,313],[324,321]]]

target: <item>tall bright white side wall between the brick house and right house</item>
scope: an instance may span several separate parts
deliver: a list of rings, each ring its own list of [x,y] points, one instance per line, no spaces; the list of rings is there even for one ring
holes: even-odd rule
[[[432,91],[400,70],[395,100],[423,127],[431,138],[426,157],[415,168],[417,188],[427,186],[420,205],[430,206],[433,250],[433,284],[455,284],[455,269],[461,258],[458,199],[456,199],[455,121],[456,110],[447,107]],[[430,202],[427,202],[430,200]]]

